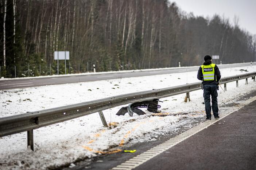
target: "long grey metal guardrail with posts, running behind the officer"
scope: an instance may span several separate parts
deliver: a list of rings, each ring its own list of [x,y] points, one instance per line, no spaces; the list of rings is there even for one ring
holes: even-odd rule
[[[256,72],[224,77],[220,80],[220,84],[224,84],[224,90],[226,90],[226,83],[228,82],[237,81],[238,86],[238,80],[246,78],[246,84],[248,84],[247,78],[252,77],[253,81],[255,81],[255,76]],[[182,93],[187,93],[187,98],[189,98],[189,92],[199,89],[201,89],[201,82],[181,86],[173,86],[170,88],[122,94],[119,96],[113,96],[79,104],[4,117],[0,118],[0,137],[27,131],[28,146],[34,150],[33,129],[56,124],[58,122],[64,122],[96,112],[99,112],[103,125],[107,126],[102,110],[114,108],[116,106],[125,105],[132,102],[170,97]]]

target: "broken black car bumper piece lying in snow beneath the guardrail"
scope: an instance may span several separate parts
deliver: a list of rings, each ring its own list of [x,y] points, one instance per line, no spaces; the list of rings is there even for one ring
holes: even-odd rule
[[[133,115],[134,113],[137,113],[138,115],[143,115],[145,114],[145,112],[143,112],[142,110],[138,109],[138,108],[148,108],[147,110],[153,113],[159,113],[158,109],[161,107],[160,105],[158,105],[158,102],[162,102],[159,101],[158,98],[155,98],[153,100],[146,100],[146,101],[141,101],[141,102],[135,102],[135,103],[131,103],[126,107],[121,108],[118,112],[117,112],[117,116],[120,115],[125,115],[125,113],[128,112],[128,114],[130,116]]]

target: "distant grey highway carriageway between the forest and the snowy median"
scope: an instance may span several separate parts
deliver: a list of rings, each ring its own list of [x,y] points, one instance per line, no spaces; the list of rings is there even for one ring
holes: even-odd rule
[[[253,63],[256,65],[256,63]],[[218,65],[219,68],[230,68],[237,66],[250,66],[250,63],[240,63],[240,64],[223,64]],[[86,82],[86,81],[96,81],[96,80],[108,80],[115,78],[125,78],[125,77],[140,77],[140,76],[152,76],[158,74],[170,74],[170,73],[181,73],[181,72],[191,72],[197,71],[198,67],[177,67],[174,69],[165,70],[141,70],[139,72],[117,72],[117,73],[106,73],[106,74],[90,74],[90,75],[70,75],[70,76],[58,76],[58,77],[44,77],[35,78],[31,77],[29,79],[13,79],[13,80],[0,80],[0,90],[15,89],[15,88],[27,88],[34,86],[44,86],[44,85],[54,85],[54,84],[66,84],[74,82]]]

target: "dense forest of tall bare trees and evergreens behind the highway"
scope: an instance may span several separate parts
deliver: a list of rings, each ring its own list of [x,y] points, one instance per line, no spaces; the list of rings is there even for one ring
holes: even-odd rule
[[[0,9],[5,77],[55,74],[54,51],[70,52],[69,73],[201,65],[206,54],[255,61],[255,36],[236,17],[194,16],[168,0],[0,0]]]

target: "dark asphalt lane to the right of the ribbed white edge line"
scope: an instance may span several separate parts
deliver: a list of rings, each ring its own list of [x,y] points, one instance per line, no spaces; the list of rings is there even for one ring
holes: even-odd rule
[[[135,170],[256,169],[256,100]],[[157,165],[157,166],[155,166]]]

